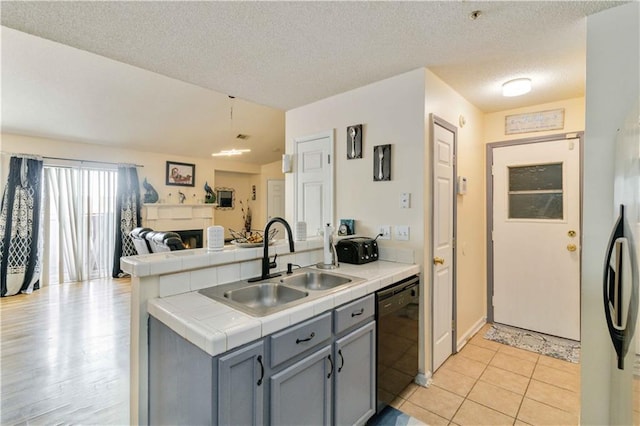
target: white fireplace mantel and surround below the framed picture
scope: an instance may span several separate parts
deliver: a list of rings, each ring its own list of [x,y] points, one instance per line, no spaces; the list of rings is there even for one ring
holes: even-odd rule
[[[154,231],[186,231],[206,229],[213,225],[215,204],[143,204],[142,226]]]

